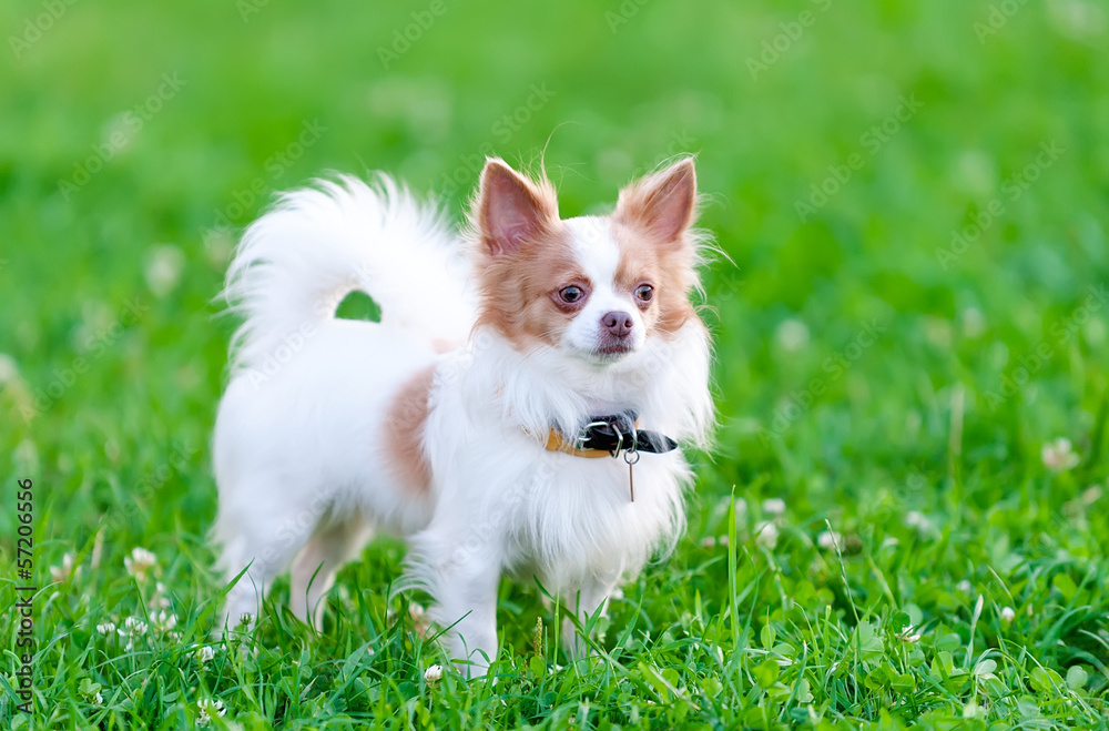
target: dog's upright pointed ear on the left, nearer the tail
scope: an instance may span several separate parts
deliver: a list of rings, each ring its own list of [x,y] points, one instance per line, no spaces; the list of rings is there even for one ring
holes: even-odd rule
[[[518,251],[558,219],[558,202],[549,186],[537,186],[490,158],[481,171],[478,229],[481,243],[494,256]]]

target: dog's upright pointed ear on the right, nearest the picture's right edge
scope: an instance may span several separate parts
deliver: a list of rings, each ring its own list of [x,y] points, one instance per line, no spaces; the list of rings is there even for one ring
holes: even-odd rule
[[[671,242],[693,223],[695,209],[696,171],[685,158],[620,191],[615,219]]]

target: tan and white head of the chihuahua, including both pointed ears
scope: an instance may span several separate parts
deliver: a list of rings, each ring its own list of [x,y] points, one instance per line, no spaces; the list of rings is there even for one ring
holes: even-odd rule
[[[608,216],[561,220],[551,184],[490,159],[471,213],[481,312],[519,349],[615,363],[691,317],[692,159],[620,192]]]

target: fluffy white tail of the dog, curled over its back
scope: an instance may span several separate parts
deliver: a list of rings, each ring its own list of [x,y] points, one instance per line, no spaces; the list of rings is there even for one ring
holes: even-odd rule
[[[243,317],[234,367],[256,367],[335,317],[353,291],[368,294],[381,323],[430,339],[465,339],[475,298],[462,247],[440,212],[391,179],[349,176],[283,194],[243,235],[224,295]]]

